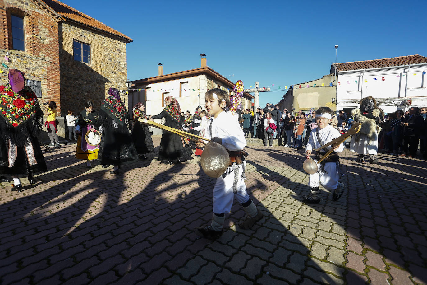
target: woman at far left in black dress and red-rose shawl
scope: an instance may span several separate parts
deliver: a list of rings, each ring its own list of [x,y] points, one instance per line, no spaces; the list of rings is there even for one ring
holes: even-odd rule
[[[18,69],[9,70],[10,84],[0,85],[0,175],[12,176],[12,191],[21,192],[19,177],[36,184],[34,174],[47,171],[38,142],[43,112],[25,77]]]

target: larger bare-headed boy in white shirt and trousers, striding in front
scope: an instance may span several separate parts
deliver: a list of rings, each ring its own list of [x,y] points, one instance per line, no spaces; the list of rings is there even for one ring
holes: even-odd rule
[[[194,229],[194,232],[204,238],[216,239],[222,235],[222,224],[225,214],[231,211],[233,199],[241,203],[247,215],[240,228],[249,229],[261,220],[263,214],[258,211],[255,204],[249,198],[245,185],[245,158],[241,150],[246,146],[246,139],[240,127],[237,116],[231,112],[225,112],[230,105],[228,94],[214,88],[205,94],[205,107],[211,119],[208,122],[206,138],[218,144],[222,144],[228,150],[233,162],[225,172],[216,179],[213,187],[213,218],[210,225]],[[203,146],[197,143],[197,146]]]

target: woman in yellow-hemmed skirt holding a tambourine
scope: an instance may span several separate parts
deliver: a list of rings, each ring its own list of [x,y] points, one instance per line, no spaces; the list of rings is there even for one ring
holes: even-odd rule
[[[98,118],[99,114],[94,110],[94,103],[87,101],[85,109],[80,112],[76,130],[74,131],[77,134],[76,158],[86,159],[87,167],[91,167],[92,159],[98,158],[99,144],[96,146],[88,144],[85,135],[89,130],[99,128]]]

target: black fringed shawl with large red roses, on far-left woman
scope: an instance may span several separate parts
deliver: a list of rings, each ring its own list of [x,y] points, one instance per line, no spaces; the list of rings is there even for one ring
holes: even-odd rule
[[[43,112],[28,86],[15,93],[10,84],[0,86],[0,136],[23,146],[29,136],[36,137],[42,127]]]

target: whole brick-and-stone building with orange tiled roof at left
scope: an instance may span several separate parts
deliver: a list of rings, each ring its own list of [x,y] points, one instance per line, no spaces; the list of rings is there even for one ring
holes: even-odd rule
[[[98,109],[108,88],[125,88],[132,38],[57,0],[0,0],[0,19],[4,63],[25,72],[41,102],[56,102],[58,115],[76,114],[88,100]],[[7,69],[0,68],[4,84]]]

